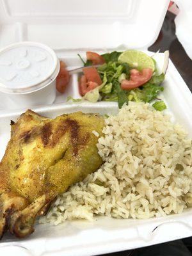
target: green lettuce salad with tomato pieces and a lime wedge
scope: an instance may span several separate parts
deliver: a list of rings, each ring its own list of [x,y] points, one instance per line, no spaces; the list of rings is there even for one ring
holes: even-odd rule
[[[78,54],[79,55],[79,54]],[[81,56],[79,55],[79,58]],[[79,78],[79,93],[91,102],[116,101],[122,108],[129,100],[151,102],[162,111],[166,108],[157,95],[163,91],[164,72],[157,72],[156,61],[141,51],[129,50],[99,55],[86,52],[83,74]]]

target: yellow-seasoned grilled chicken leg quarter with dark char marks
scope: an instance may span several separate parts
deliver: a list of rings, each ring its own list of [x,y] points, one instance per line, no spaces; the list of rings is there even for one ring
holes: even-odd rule
[[[104,119],[81,112],[50,119],[28,110],[11,125],[0,163],[0,237],[7,229],[25,237],[58,194],[102,164],[93,131],[102,135]]]

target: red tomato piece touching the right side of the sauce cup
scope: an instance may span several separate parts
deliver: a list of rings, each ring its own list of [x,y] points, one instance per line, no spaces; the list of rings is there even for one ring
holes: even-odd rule
[[[70,74],[66,69],[66,65],[63,61],[60,61],[60,72],[56,78],[56,89],[60,93],[64,93],[67,88],[70,79]]]

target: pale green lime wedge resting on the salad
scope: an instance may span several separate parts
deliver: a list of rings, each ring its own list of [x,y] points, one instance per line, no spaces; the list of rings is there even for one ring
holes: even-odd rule
[[[142,70],[143,68],[156,69],[155,62],[146,53],[136,50],[122,52],[118,57],[120,63],[128,63],[130,67]]]

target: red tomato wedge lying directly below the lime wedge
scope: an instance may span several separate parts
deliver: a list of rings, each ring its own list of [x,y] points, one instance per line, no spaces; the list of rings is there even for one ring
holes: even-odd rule
[[[131,90],[147,83],[152,77],[152,68],[143,68],[143,70],[138,71],[136,69],[131,69],[130,80],[124,79],[121,83],[121,88],[123,90]]]

